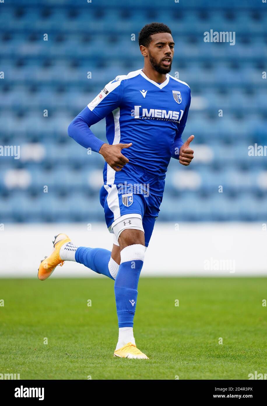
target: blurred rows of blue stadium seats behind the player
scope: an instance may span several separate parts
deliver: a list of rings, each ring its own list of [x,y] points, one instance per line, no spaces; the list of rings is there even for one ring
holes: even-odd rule
[[[107,82],[143,67],[138,33],[153,21],[173,32],[171,75],[192,91],[183,138],[195,135],[190,167],[171,160],[158,220],[266,221],[267,157],[248,156],[267,145],[266,4],[20,0],[0,4],[0,145],[20,145],[20,159],[0,157],[0,222],[104,220],[103,158],[67,127]],[[205,43],[210,29],[235,31],[235,45]],[[93,131],[104,140],[105,121]]]

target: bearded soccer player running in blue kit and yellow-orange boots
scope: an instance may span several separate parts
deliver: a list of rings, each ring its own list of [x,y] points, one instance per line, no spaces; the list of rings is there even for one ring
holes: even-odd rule
[[[114,234],[112,251],[78,247],[59,234],[53,253],[41,262],[38,278],[47,279],[64,261],[76,261],[115,280],[119,338],[114,356],[147,359],[133,335],[139,275],[160,211],[167,166],[171,157],[190,164],[194,136],[185,143],[181,138],[191,93],[188,84],[169,75],[171,30],[161,23],[147,24],[139,45],[143,69],[111,80],[68,127],[70,137],[106,161],[100,203]],[[107,143],[90,129],[104,117]]]

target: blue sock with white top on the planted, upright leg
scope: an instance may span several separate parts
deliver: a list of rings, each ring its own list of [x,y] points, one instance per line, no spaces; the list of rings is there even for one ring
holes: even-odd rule
[[[137,302],[137,285],[145,257],[145,246],[129,245],[121,251],[121,263],[114,289],[119,327],[132,327]]]

